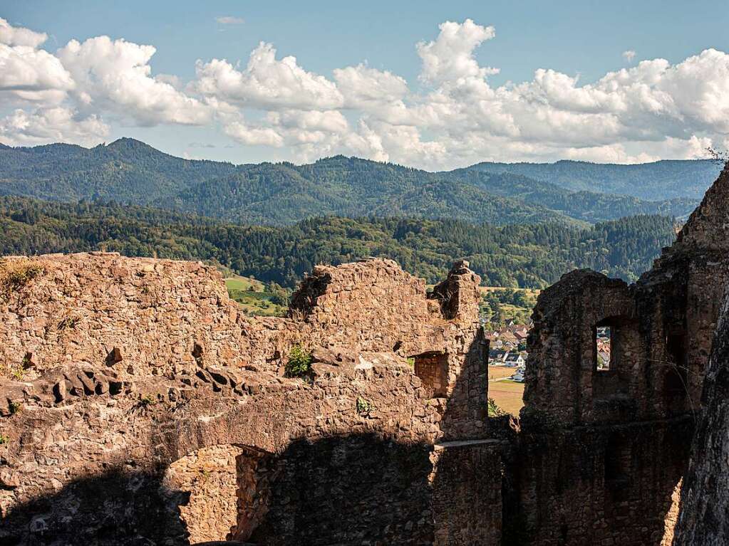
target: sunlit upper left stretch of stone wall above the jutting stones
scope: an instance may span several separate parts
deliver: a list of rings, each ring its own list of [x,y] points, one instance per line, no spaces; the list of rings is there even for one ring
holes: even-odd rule
[[[113,253],[3,259],[42,268],[0,305],[0,365],[25,358],[28,376],[77,363],[122,378],[172,375],[195,368],[195,344],[233,366],[250,354],[244,320],[210,267]]]

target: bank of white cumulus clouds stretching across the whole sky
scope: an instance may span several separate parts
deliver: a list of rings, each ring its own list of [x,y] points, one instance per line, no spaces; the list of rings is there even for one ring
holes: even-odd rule
[[[198,60],[184,81],[152,74],[152,45],[97,36],[52,53],[41,49],[44,33],[0,20],[0,138],[94,143],[114,123],[206,125],[293,160],[343,153],[431,169],[701,157],[729,141],[725,52],[633,65],[629,50],[631,66],[594,82],[543,67],[529,81],[494,86],[498,70],[476,53],[495,37],[470,19],[441,24],[415,44],[417,86],[367,63],[316,74],[263,41],[245,63]]]

